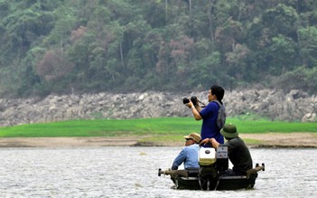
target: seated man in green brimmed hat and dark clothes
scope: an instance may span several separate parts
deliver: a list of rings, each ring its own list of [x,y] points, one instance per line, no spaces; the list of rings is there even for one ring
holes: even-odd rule
[[[211,143],[217,149],[220,146],[228,146],[228,158],[233,165],[232,170],[228,169],[226,173],[229,175],[246,175],[247,170],[252,168],[252,158],[244,141],[238,137],[237,127],[233,124],[226,124],[220,133],[228,142],[219,144],[215,138],[205,138],[200,142],[200,145]]]

